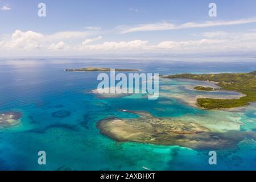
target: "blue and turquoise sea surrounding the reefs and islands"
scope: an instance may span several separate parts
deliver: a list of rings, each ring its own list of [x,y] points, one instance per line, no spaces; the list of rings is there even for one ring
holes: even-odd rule
[[[23,114],[19,125],[0,129],[1,170],[142,170],[143,166],[154,170],[256,169],[254,140],[244,140],[235,148],[217,151],[217,165],[210,166],[207,150],[118,143],[100,134],[96,123],[101,119],[138,117],[120,110],[143,110],[155,117],[193,117],[214,111],[189,106],[171,96],[159,97],[158,100],[98,98],[90,93],[97,88],[97,72],[63,71],[81,67],[138,68],[142,72],[160,74],[250,72],[256,70],[256,62],[0,60],[0,112],[19,111]],[[184,84],[195,82],[175,80],[162,83],[193,94],[184,89]],[[52,115],[63,110],[70,115],[63,118]],[[241,111],[222,112],[220,117],[236,115],[243,123],[241,130],[255,131],[255,112],[253,104]],[[38,164],[40,150],[47,154],[45,166]]]

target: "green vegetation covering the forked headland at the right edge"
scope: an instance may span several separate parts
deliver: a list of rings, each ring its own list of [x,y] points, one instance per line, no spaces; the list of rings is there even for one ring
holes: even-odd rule
[[[245,97],[239,99],[199,98],[197,105],[206,109],[232,108],[246,106],[256,101],[256,71],[250,73],[221,73],[210,75],[180,74],[166,78],[188,78],[193,80],[214,81],[223,90],[241,92]]]

